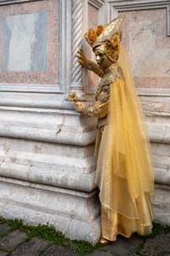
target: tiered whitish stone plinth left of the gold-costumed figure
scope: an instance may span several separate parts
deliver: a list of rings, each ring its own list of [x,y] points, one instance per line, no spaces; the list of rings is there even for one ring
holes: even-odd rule
[[[12,107],[1,108],[0,119],[0,215],[97,242],[96,120],[72,110]]]

